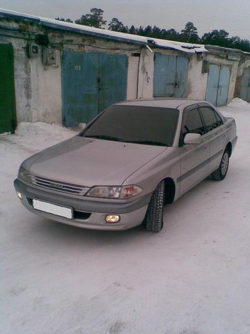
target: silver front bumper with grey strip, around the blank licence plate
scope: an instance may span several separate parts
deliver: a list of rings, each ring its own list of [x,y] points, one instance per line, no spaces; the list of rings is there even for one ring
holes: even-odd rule
[[[15,180],[14,186],[16,191],[22,193],[23,199],[21,202],[24,207],[34,214],[67,225],[74,225],[79,228],[88,228],[92,230],[127,230],[128,228],[140,225],[147,212],[147,207],[151,198],[151,194],[148,194],[142,198],[134,199],[129,202],[115,202],[112,200],[103,202],[44,191],[31,184],[26,184],[19,179]],[[68,219],[33,209],[34,198],[55,205],[72,207],[74,212],[73,218]],[[105,218],[107,214],[119,214],[119,223],[106,223]]]

